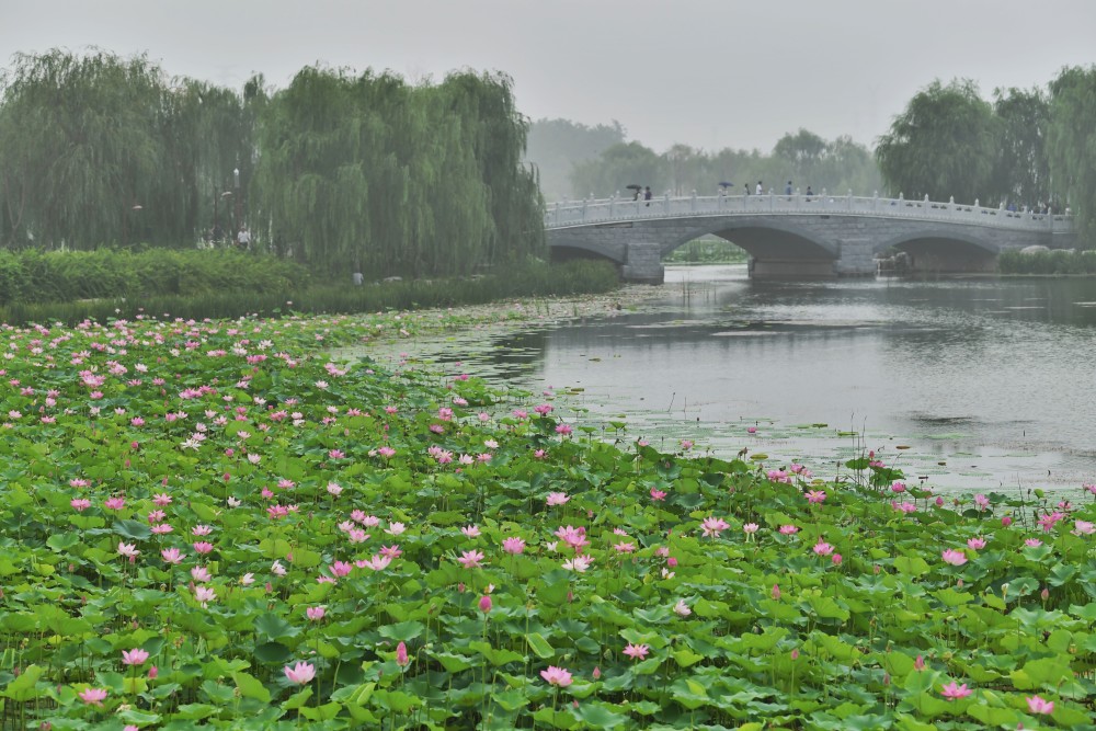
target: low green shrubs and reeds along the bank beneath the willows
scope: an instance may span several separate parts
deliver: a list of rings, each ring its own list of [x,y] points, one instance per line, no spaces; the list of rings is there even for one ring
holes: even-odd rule
[[[333,282],[293,262],[233,250],[0,251],[0,321],[8,324],[106,322],[163,312],[193,319],[376,312],[600,294],[618,286],[608,262],[529,260],[481,275],[355,286],[346,273]]]

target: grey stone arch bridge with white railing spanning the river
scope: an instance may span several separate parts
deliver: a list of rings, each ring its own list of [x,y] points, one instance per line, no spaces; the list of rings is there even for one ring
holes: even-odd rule
[[[663,255],[706,235],[744,249],[760,279],[874,275],[876,259],[895,251],[915,272],[990,272],[1002,251],[1074,239],[1063,215],[824,192],[556,203],[545,232],[556,260],[604,258],[624,279],[649,283],[663,281]]]

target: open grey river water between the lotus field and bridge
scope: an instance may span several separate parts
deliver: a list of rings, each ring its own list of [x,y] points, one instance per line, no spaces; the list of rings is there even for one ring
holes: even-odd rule
[[[581,406],[667,446],[703,432],[724,455],[821,465],[858,446],[835,446],[843,431],[940,487],[1096,478],[1094,279],[754,283],[676,267],[662,290],[653,308],[526,333],[492,357],[537,390],[581,387]]]

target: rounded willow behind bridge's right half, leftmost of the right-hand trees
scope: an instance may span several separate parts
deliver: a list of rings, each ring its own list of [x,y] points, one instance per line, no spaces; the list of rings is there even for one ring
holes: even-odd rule
[[[984,201],[997,157],[996,124],[973,81],[933,81],[894,117],[876,147],[891,193]]]

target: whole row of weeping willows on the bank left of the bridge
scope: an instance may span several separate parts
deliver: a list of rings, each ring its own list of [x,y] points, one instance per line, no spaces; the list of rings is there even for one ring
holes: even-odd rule
[[[16,55],[0,92],[4,248],[192,247],[247,225],[313,271],[367,276],[544,253],[528,123],[503,75],[310,67],[237,93],[145,56],[53,50]]]

